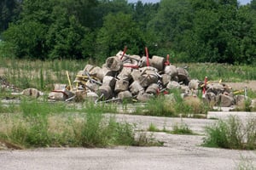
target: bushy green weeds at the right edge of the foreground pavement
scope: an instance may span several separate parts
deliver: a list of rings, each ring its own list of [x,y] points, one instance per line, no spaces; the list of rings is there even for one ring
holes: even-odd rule
[[[237,150],[254,150],[256,147],[256,120],[253,117],[241,122],[236,116],[227,121],[219,120],[215,125],[206,128],[207,137],[204,145]]]

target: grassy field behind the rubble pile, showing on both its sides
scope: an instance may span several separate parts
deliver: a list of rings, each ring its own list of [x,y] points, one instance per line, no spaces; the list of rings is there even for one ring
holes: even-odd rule
[[[2,45],[3,46],[3,45]],[[96,61],[90,60],[28,60],[12,59],[0,56],[0,68],[8,81],[15,86],[24,88],[38,88],[40,90],[51,90],[54,83],[66,83],[66,71],[69,71],[71,79],[74,80],[78,71],[84,69],[84,65]],[[256,68],[250,65],[225,65],[225,64],[176,64],[177,66],[188,65],[191,78],[203,80],[223,79],[225,82],[243,82],[256,80]]]

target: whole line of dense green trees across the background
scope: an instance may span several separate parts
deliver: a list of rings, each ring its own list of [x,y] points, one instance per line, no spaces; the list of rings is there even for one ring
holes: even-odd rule
[[[256,0],[3,0],[0,31],[17,58],[106,59],[128,54],[183,62],[256,63]]]

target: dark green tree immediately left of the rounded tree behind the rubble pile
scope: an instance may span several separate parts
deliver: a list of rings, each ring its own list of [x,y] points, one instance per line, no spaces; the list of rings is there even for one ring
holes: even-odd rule
[[[54,22],[49,26],[46,35],[50,59],[81,59],[85,27],[81,26],[74,15],[67,14],[67,10],[55,7],[52,13]]]

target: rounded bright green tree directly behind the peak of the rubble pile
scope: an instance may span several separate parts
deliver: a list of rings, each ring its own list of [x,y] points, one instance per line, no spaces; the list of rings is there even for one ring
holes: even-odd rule
[[[142,54],[145,46],[142,32],[131,14],[108,14],[98,33],[97,51],[100,56],[108,57],[116,54],[125,46],[130,54]]]

